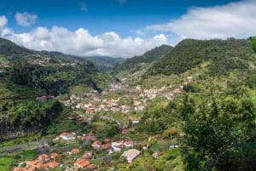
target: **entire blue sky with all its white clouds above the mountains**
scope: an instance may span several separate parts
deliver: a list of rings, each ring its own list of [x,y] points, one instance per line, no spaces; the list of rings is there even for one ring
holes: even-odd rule
[[[184,38],[256,35],[256,0],[0,0],[0,37],[35,50],[131,57]]]

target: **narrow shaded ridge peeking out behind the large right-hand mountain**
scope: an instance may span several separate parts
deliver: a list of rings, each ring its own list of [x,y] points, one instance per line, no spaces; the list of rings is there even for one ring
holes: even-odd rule
[[[140,71],[149,66],[155,60],[160,59],[163,55],[169,53],[172,50],[172,46],[161,45],[160,47],[152,48],[145,54],[140,56],[134,56],[131,59],[125,60],[123,63],[118,64],[113,68],[113,73],[119,71]]]

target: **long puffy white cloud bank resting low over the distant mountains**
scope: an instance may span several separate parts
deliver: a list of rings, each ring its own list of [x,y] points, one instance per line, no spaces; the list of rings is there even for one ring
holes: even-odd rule
[[[35,30],[17,34],[10,29],[2,31],[1,37],[8,38],[26,48],[36,50],[60,51],[64,54],[78,56],[109,55],[131,57],[143,54],[150,48],[166,43],[163,34],[151,38],[121,38],[113,31],[92,36],[89,31],[79,28],[69,31],[66,28],[53,26],[50,30],[37,27]]]

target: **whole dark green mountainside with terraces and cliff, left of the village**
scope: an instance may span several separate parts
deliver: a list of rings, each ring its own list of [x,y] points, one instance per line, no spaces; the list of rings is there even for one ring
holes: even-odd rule
[[[81,92],[101,92],[107,80],[90,61],[22,48],[1,38],[0,141],[35,134],[54,121],[62,122],[58,118],[63,117],[64,106],[54,96],[68,95],[78,87]],[[65,128],[78,128],[67,120],[70,112],[66,110],[65,115]]]

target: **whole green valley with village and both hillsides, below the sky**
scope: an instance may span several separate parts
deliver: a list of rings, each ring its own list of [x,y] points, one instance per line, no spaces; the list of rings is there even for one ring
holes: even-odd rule
[[[253,170],[250,39],[148,52],[108,73],[64,54],[2,54],[0,170]]]

